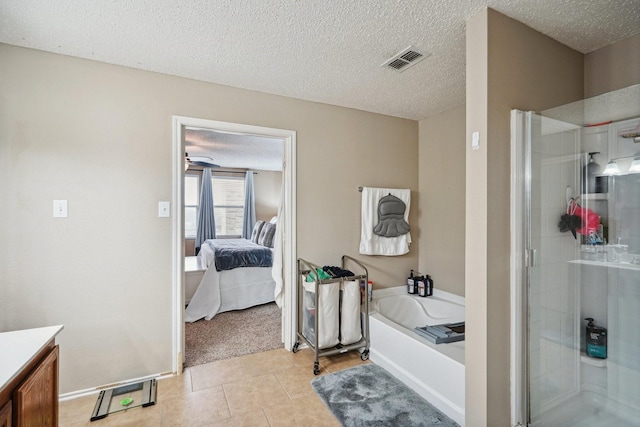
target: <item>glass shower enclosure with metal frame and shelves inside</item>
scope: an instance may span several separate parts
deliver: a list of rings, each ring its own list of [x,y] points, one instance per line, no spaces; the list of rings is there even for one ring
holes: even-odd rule
[[[640,425],[638,108],[512,112],[514,424]]]

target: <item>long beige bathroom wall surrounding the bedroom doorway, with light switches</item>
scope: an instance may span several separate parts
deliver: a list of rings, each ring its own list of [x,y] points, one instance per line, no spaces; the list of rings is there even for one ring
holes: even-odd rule
[[[62,393],[172,370],[172,115],[297,131],[299,256],[418,263],[357,254],[359,185],[417,196],[415,121],[8,45],[0,75],[0,330],[65,325]]]

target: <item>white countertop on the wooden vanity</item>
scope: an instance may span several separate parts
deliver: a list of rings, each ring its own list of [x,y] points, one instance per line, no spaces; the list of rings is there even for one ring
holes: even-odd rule
[[[7,385],[63,326],[0,333],[0,389]]]

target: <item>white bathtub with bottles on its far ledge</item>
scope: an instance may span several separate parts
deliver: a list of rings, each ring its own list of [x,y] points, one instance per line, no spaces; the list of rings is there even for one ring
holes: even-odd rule
[[[421,298],[406,287],[374,291],[369,313],[370,358],[464,426],[464,341],[433,344],[416,326],[464,320],[464,298],[434,290]]]

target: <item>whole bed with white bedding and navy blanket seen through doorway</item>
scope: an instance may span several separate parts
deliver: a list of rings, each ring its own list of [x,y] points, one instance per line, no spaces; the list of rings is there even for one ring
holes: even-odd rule
[[[261,224],[261,228],[266,224]],[[272,228],[273,232],[256,233],[254,229],[256,236],[252,236],[251,240],[212,239],[202,245],[198,257],[206,271],[185,310],[186,322],[202,318],[211,320],[218,313],[243,310],[275,300],[273,237],[269,239],[269,234],[275,234],[275,224],[268,228]],[[229,261],[229,251],[240,254],[237,256],[239,261]],[[265,260],[265,257],[269,260]]]

